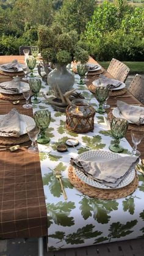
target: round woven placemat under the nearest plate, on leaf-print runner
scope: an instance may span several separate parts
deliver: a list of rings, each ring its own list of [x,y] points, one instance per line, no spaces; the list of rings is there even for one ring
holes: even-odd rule
[[[124,188],[118,189],[99,189],[93,186],[87,185],[84,181],[80,180],[76,174],[74,174],[73,166],[68,168],[68,178],[70,183],[82,194],[85,194],[89,197],[94,197],[98,199],[118,199],[131,195],[137,186],[139,185],[139,178],[135,172],[134,180]]]

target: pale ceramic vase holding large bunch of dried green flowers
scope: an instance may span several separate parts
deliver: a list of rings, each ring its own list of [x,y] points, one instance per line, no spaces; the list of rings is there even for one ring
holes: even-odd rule
[[[73,87],[74,75],[67,69],[67,64],[74,60],[87,62],[88,53],[78,42],[76,31],[62,32],[60,26],[40,26],[38,45],[45,62],[51,62],[54,70],[48,74],[48,84],[52,88],[59,86],[65,93]]]

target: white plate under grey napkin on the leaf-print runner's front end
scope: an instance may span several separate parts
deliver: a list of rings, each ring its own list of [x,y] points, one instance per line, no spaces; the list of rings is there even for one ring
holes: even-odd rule
[[[84,152],[78,156],[79,159],[83,159],[86,161],[104,161],[106,159],[117,159],[120,157],[120,154],[113,153],[110,151],[104,151],[104,150],[90,150],[88,152]],[[98,181],[93,180],[92,178],[87,177],[82,170],[78,169],[77,167],[73,166],[74,172],[82,181],[87,183],[90,186],[93,186],[95,188],[103,188],[103,189],[117,189],[117,188],[123,188],[124,186],[127,186],[129,183],[134,180],[135,177],[135,169],[132,169],[131,171],[126,174],[126,176],[123,178],[123,180],[118,184],[116,188],[110,188],[109,186],[104,185],[103,183],[100,183]]]

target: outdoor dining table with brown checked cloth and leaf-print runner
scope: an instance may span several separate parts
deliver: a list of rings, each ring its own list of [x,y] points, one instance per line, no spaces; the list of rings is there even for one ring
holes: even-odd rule
[[[0,65],[13,59],[18,59],[20,62],[24,60],[23,56],[0,56]],[[92,58],[89,61],[97,63]],[[37,70],[35,74],[38,76]],[[106,70],[104,75],[112,78]],[[87,85],[92,84],[97,78],[98,76],[88,76]],[[3,81],[5,80],[2,78],[0,82]],[[74,88],[95,108],[97,103],[95,97],[86,85],[77,84],[78,81],[79,76],[76,75]],[[49,251],[142,237],[144,235],[142,174],[139,174],[139,186],[132,195],[113,200],[85,196],[68,180],[71,157],[87,150],[109,151],[112,136],[103,119],[107,114],[96,113],[93,132],[71,133],[65,128],[65,113],[54,111],[43,98],[43,93],[46,94],[49,90],[48,85],[42,82],[38,96],[41,103],[32,104],[33,113],[39,109],[48,109],[51,112],[51,123],[47,131],[51,138],[49,144],[38,144],[39,156],[27,152],[25,146],[30,145],[30,142],[22,144],[23,147],[16,152],[0,152],[0,237],[5,239],[48,235]],[[51,97],[51,92],[48,94],[48,97]],[[131,93],[126,92],[125,95]],[[134,96],[119,99],[128,104],[140,104]],[[108,103],[111,108],[116,107],[117,98],[110,97]],[[21,114],[32,117],[32,110],[24,109],[23,104],[24,101],[21,100],[15,108]],[[0,105],[1,114],[7,114],[13,108],[12,101],[4,103],[0,100]],[[65,142],[69,137],[76,138],[79,145],[69,147],[65,153],[57,152],[57,144]],[[121,140],[124,153],[131,151],[129,142],[131,143],[131,133],[128,130],[126,139]],[[144,158],[143,144],[138,148]],[[56,167],[62,171],[67,200],[64,200],[59,181],[54,176]]]

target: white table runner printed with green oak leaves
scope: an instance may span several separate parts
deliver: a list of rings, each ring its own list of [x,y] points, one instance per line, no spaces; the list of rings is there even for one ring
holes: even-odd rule
[[[78,75],[76,75],[76,81],[79,81]],[[74,84],[73,87],[93,105],[93,108],[96,107],[98,102],[87,86]],[[117,200],[99,200],[85,196],[68,180],[71,157],[74,158],[88,150],[109,150],[113,138],[104,122],[106,114],[95,114],[93,132],[71,133],[65,128],[65,113],[54,111],[48,101],[43,98],[42,92],[47,97],[52,97],[51,89],[44,82],[38,96],[41,103],[33,104],[33,111],[48,109],[51,112],[51,123],[46,131],[50,142],[46,145],[38,144],[48,214],[49,251],[143,237],[144,177],[141,174],[139,174],[139,188],[131,196]],[[65,153],[57,152],[57,145],[65,143],[69,137],[76,138],[79,145],[68,147]],[[121,156],[131,152],[131,146],[126,139],[121,139],[120,144],[124,147],[124,153],[120,154]],[[64,199],[59,180],[54,175],[56,167],[62,171],[67,200]]]

